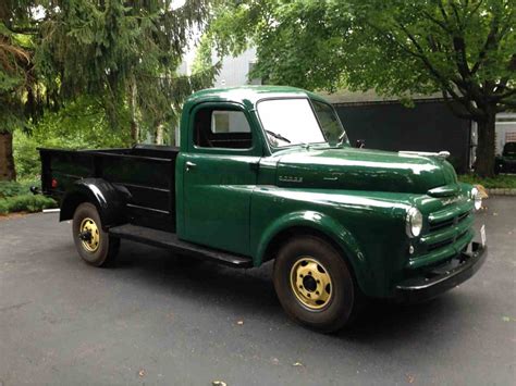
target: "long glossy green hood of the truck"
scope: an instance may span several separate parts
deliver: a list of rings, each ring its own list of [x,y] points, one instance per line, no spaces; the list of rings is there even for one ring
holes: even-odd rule
[[[304,149],[280,157],[284,187],[426,194],[454,186],[453,166],[440,157],[355,148]]]

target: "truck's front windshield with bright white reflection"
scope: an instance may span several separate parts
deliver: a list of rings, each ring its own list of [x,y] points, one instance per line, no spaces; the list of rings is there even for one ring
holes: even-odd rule
[[[258,114],[269,142],[274,147],[337,142],[344,133],[339,117],[330,105],[316,103],[314,107],[317,117],[306,98],[271,99],[259,102]]]

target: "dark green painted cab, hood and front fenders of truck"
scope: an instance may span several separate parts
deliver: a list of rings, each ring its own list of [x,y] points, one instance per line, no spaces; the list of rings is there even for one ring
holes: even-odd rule
[[[459,224],[429,231],[431,222],[472,211],[471,187],[458,184],[452,165],[439,157],[329,145],[270,148],[256,103],[293,97],[322,100],[305,90],[273,86],[210,89],[187,100],[176,163],[181,238],[249,256],[260,265],[273,258],[267,256],[268,247],[282,232],[314,229],[341,248],[361,289],[379,297],[391,296],[396,283],[457,254],[471,240],[472,214]],[[201,103],[231,103],[244,111],[254,148],[195,148],[192,121]],[[188,172],[187,161],[196,164]],[[257,162],[259,170],[250,166]],[[425,217],[422,235],[416,239],[405,232],[406,212],[413,206]]]

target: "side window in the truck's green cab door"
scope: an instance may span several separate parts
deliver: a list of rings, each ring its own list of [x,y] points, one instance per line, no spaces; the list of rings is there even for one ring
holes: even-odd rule
[[[199,148],[250,149],[249,123],[242,111],[199,109],[194,117],[194,144]]]

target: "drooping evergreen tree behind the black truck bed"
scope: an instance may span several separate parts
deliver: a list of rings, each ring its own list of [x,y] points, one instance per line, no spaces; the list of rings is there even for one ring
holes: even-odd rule
[[[56,3],[38,51],[47,83],[65,98],[102,97],[113,126],[121,123],[120,101],[126,101],[133,142],[146,134],[162,137],[163,125],[176,120],[171,105],[211,83],[211,71],[176,74],[192,32],[208,17],[209,1],[187,0],[179,9],[170,0]]]

